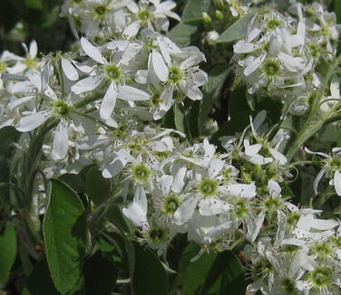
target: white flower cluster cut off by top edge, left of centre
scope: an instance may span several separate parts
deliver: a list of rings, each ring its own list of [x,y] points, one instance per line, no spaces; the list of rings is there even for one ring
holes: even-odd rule
[[[62,15],[66,16],[73,33],[85,34],[89,39],[133,38],[143,28],[157,32],[167,32],[169,17],[180,21],[180,16],[172,12],[176,3],[167,0],[67,0],[63,4]]]

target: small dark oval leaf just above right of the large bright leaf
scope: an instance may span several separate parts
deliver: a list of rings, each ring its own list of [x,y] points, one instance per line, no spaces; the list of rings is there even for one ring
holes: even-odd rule
[[[92,167],[86,176],[86,192],[92,199],[93,204],[103,204],[110,190],[110,180],[102,176],[102,172],[98,167]]]

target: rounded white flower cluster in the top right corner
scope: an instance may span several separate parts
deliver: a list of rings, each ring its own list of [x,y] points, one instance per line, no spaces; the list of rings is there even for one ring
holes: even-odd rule
[[[335,59],[336,14],[317,2],[293,1],[286,14],[254,9],[247,37],[233,46],[236,74],[248,85],[249,93],[290,101],[290,110],[301,113],[320,85],[318,62]]]

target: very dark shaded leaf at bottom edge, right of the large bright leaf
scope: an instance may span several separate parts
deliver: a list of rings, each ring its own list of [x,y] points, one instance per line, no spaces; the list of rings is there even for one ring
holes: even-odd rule
[[[95,252],[84,264],[86,295],[111,294],[117,277],[118,268],[101,251]]]

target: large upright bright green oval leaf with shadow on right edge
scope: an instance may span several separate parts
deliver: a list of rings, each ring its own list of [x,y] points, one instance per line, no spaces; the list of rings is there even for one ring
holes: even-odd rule
[[[60,180],[51,182],[44,241],[54,285],[65,294],[82,281],[86,219],[83,203],[73,189]]]

